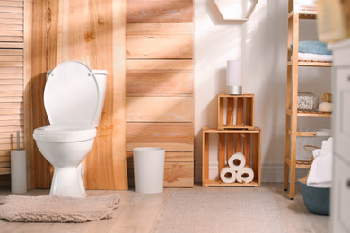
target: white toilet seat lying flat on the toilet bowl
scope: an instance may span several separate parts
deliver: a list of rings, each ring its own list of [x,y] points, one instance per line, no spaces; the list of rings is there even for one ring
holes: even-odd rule
[[[38,142],[80,142],[96,137],[92,125],[48,125],[34,130],[33,138]]]

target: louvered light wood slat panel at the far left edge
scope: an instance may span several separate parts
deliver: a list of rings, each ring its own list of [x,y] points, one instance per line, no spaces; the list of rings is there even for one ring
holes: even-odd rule
[[[24,149],[23,1],[0,1],[0,185],[10,183],[10,151]]]

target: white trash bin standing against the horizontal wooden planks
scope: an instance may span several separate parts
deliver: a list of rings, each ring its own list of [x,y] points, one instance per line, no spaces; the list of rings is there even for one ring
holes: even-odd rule
[[[162,193],[164,158],[164,148],[134,148],[134,180],[137,193]]]

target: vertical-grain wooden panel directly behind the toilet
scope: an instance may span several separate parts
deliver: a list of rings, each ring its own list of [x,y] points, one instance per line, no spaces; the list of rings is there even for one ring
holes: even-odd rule
[[[0,1],[1,2],[1,1]],[[52,169],[33,138],[49,125],[43,105],[46,72],[66,60],[108,71],[105,105],[92,151],[83,162],[87,189],[127,189],[125,122],[126,1],[27,0],[31,187],[49,188]]]

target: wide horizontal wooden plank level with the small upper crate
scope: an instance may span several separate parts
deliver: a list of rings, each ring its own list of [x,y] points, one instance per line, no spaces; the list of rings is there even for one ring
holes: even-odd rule
[[[127,97],[127,122],[192,122],[192,97]]]

